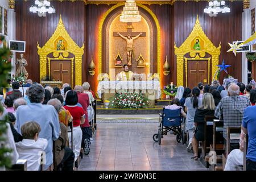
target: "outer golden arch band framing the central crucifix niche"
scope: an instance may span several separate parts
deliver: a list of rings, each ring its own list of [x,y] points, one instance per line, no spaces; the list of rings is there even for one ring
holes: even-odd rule
[[[102,26],[105,22],[106,17],[117,7],[123,6],[125,5],[125,3],[118,3],[117,5],[112,6],[108,11],[106,11],[106,13],[102,16],[101,21],[100,21],[100,27],[98,29],[98,74],[100,75],[102,72]],[[144,10],[146,10],[154,19],[155,24],[156,24],[156,32],[157,32],[157,65],[158,65],[158,74],[161,77],[160,74],[160,56],[161,56],[161,52],[160,52],[160,25],[158,22],[158,19],[156,18],[156,15],[147,7],[142,5],[141,3],[137,3],[137,6],[142,7]],[[161,80],[161,78],[159,79]]]

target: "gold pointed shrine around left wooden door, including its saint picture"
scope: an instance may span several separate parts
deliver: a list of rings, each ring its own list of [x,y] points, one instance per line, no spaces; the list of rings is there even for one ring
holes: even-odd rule
[[[63,69],[64,63],[68,63],[71,71],[71,82],[73,85],[74,72],[75,72],[75,85],[82,84],[82,55],[84,54],[84,44],[80,48],[69,36],[67,30],[64,27],[61,19],[57,25],[57,28],[47,43],[40,48],[38,44],[38,55],[40,56],[40,79],[43,77],[51,77],[51,63],[52,61],[59,61],[61,68],[59,72],[65,72]],[[63,62],[63,65],[62,65]],[[48,65],[48,68],[47,68]],[[75,71],[73,69],[75,65]],[[63,78],[63,75],[62,75]],[[63,80],[61,80],[63,81]]]

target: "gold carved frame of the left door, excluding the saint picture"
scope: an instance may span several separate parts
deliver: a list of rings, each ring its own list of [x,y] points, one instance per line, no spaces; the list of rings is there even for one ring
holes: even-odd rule
[[[67,42],[65,44],[64,50],[57,50],[56,49],[56,41],[59,40],[59,38],[63,38]],[[47,41],[47,43],[41,48],[38,44],[38,55],[40,60],[40,78],[47,75],[47,59],[48,61],[51,59],[57,59],[57,60],[63,60],[63,59],[69,59],[72,60],[72,83],[73,83],[73,62],[75,62],[75,84],[81,85],[82,84],[82,55],[84,54],[84,44],[82,47],[77,46],[77,44],[72,40],[72,38],[69,36],[67,30],[64,27],[63,21],[61,19],[59,23],[57,24],[57,28],[51,38]],[[55,58],[49,58],[48,55],[52,53],[53,57]],[[64,58],[68,57],[69,53],[72,53],[75,55],[73,58]],[[57,57],[57,58],[56,58]],[[48,62],[49,64],[49,62]],[[50,65],[50,64],[49,64]],[[49,66],[50,67],[50,66]],[[49,69],[49,68],[48,68]],[[50,69],[49,69],[50,70]],[[48,70],[48,73],[50,72]]]

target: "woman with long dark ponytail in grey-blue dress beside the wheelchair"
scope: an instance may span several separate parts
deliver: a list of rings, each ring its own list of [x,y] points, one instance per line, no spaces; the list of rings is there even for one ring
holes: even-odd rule
[[[191,151],[191,142],[193,137],[193,132],[195,129],[194,125],[194,117],[197,107],[202,105],[202,98],[199,98],[200,89],[196,86],[192,89],[192,96],[186,98],[185,100],[185,111],[187,111],[187,118],[186,118],[186,131],[189,135],[189,143],[187,150]]]

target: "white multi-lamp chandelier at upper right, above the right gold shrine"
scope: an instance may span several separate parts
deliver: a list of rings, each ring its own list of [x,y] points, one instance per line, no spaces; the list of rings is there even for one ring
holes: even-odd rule
[[[209,16],[217,16],[218,13],[229,13],[230,8],[225,5],[225,1],[214,0],[209,2],[209,6],[204,9],[204,13],[209,14]]]

